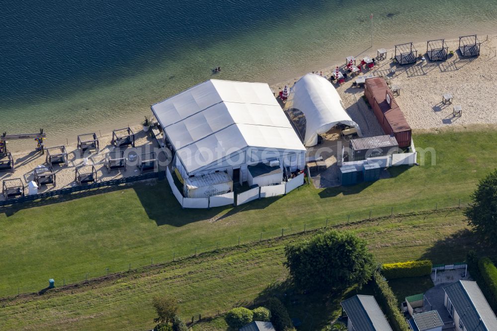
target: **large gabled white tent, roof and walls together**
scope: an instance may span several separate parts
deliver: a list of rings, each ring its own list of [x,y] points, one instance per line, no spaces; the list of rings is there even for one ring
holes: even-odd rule
[[[242,183],[248,165],[305,167],[306,149],[265,83],[209,80],[152,105],[152,112],[183,178],[226,171]]]

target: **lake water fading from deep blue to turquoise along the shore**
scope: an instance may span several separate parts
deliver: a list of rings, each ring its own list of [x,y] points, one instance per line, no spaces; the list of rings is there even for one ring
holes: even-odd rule
[[[0,131],[43,127],[47,145],[138,124],[209,78],[277,83],[341,63],[371,46],[370,13],[373,49],[497,33],[497,1],[482,0],[2,4]]]

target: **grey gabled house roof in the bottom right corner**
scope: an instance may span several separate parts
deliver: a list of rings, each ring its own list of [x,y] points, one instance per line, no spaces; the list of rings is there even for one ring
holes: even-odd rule
[[[460,280],[443,289],[467,330],[497,331],[496,315],[476,282]]]

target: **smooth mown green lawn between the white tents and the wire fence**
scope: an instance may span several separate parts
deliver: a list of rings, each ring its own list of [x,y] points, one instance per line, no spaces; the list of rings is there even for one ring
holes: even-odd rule
[[[75,282],[284,233],[372,216],[469,202],[479,178],[494,168],[497,131],[417,134],[436,165],[396,167],[392,178],[353,187],[305,186],[280,198],[237,208],[181,210],[166,181],[65,202],[1,210],[0,297],[37,291],[54,278]],[[350,215],[350,217],[349,217]],[[393,226],[393,232],[396,226]],[[437,231],[437,230],[435,230]],[[392,238],[397,241],[397,238]],[[383,244],[388,250],[390,242]],[[387,253],[388,254],[388,253]],[[153,259],[153,260],[152,260]]]

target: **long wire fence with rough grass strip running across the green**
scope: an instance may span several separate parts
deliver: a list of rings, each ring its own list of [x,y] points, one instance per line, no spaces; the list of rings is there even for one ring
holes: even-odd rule
[[[142,268],[150,268],[154,265],[168,263],[188,257],[195,257],[201,253],[215,252],[223,248],[233,248],[240,245],[253,244],[263,240],[276,239],[280,237],[301,234],[320,229],[331,227],[342,227],[347,225],[359,224],[369,220],[378,220],[382,218],[389,219],[400,215],[408,215],[415,213],[426,213],[429,211],[437,211],[447,208],[465,207],[470,203],[470,198],[457,199],[456,201],[445,200],[443,202],[433,204],[412,204],[402,207],[383,207],[370,210],[360,210],[351,213],[342,212],[339,215],[334,215],[325,219],[310,220],[304,224],[285,224],[281,228],[272,229],[263,232],[254,232],[250,234],[241,234],[230,238],[221,237],[220,240],[200,240],[198,244],[185,246],[178,245],[177,249],[171,250],[169,254],[157,254],[139,259],[129,260],[126,263],[108,263],[107,266],[100,268],[91,268],[86,270],[74,271],[70,275],[55,275],[52,279],[55,280],[55,286],[66,286],[81,282],[89,282],[101,277],[112,277],[112,274],[118,272],[136,271]],[[46,283],[45,283],[46,281]],[[46,291],[48,288],[49,279],[43,283],[37,282],[36,285],[22,287],[0,287],[0,298],[10,298],[28,293],[39,293]],[[44,288],[44,285],[47,288]]]

